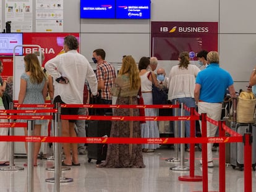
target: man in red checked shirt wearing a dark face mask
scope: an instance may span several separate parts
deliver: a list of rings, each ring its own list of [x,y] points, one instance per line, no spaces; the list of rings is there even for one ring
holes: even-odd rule
[[[103,49],[93,51],[93,62],[96,66],[96,77],[98,80],[98,91],[100,94],[100,104],[112,104],[110,94],[111,87],[116,78],[116,70],[112,64],[105,61],[106,52]],[[106,112],[112,112],[112,109],[100,110],[99,114],[104,115]]]

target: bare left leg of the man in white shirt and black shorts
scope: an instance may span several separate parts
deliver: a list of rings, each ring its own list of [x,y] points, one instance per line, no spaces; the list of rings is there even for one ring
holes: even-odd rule
[[[61,136],[70,136],[69,134],[69,120],[61,120]],[[66,156],[66,159],[64,161],[67,165],[72,165],[72,159],[70,155],[70,143],[62,143],[63,151]]]

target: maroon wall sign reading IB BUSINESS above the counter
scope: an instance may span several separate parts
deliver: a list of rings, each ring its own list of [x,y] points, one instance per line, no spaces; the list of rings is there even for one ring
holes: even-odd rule
[[[179,52],[218,51],[218,22],[151,22],[151,55],[177,60]]]

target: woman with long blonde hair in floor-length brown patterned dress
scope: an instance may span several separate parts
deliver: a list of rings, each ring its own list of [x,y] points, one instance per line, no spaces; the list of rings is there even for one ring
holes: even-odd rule
[[[132,56],[124,56],[122,67],[111,90],[117,96],[116,104],[138,104],[137,95],[140,88],[139,69]],[[139,116],[139,109],[114,110],[114,116]],[[110,137],[141,138],[139,121],[112,121]],[[142,168],[141,144],[108,144],[106,161],[97,167]]]

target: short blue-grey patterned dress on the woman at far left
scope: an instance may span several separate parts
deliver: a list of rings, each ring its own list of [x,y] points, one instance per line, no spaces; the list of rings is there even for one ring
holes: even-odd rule
[[[43,98],[43,87],[45,86],[45,80],[40,84],[32,83],[30,77],[27,73],[22,73],[20,76],[23,80],[27,81],[27,90],[26,95],[23,101],[23,104],[44,104],[45,99]],[[21,109],[42,109],[42,108],[31,108],[31,107],[22,107]],[[21,115],[35,115],[35,114],[21,114]],[[45,115],[45,114],[36,114],[36,115]],[[20,120],[20,122],[27,122],[27,120]],[[35,120],[35,124],[47,123],[47,120]]]

